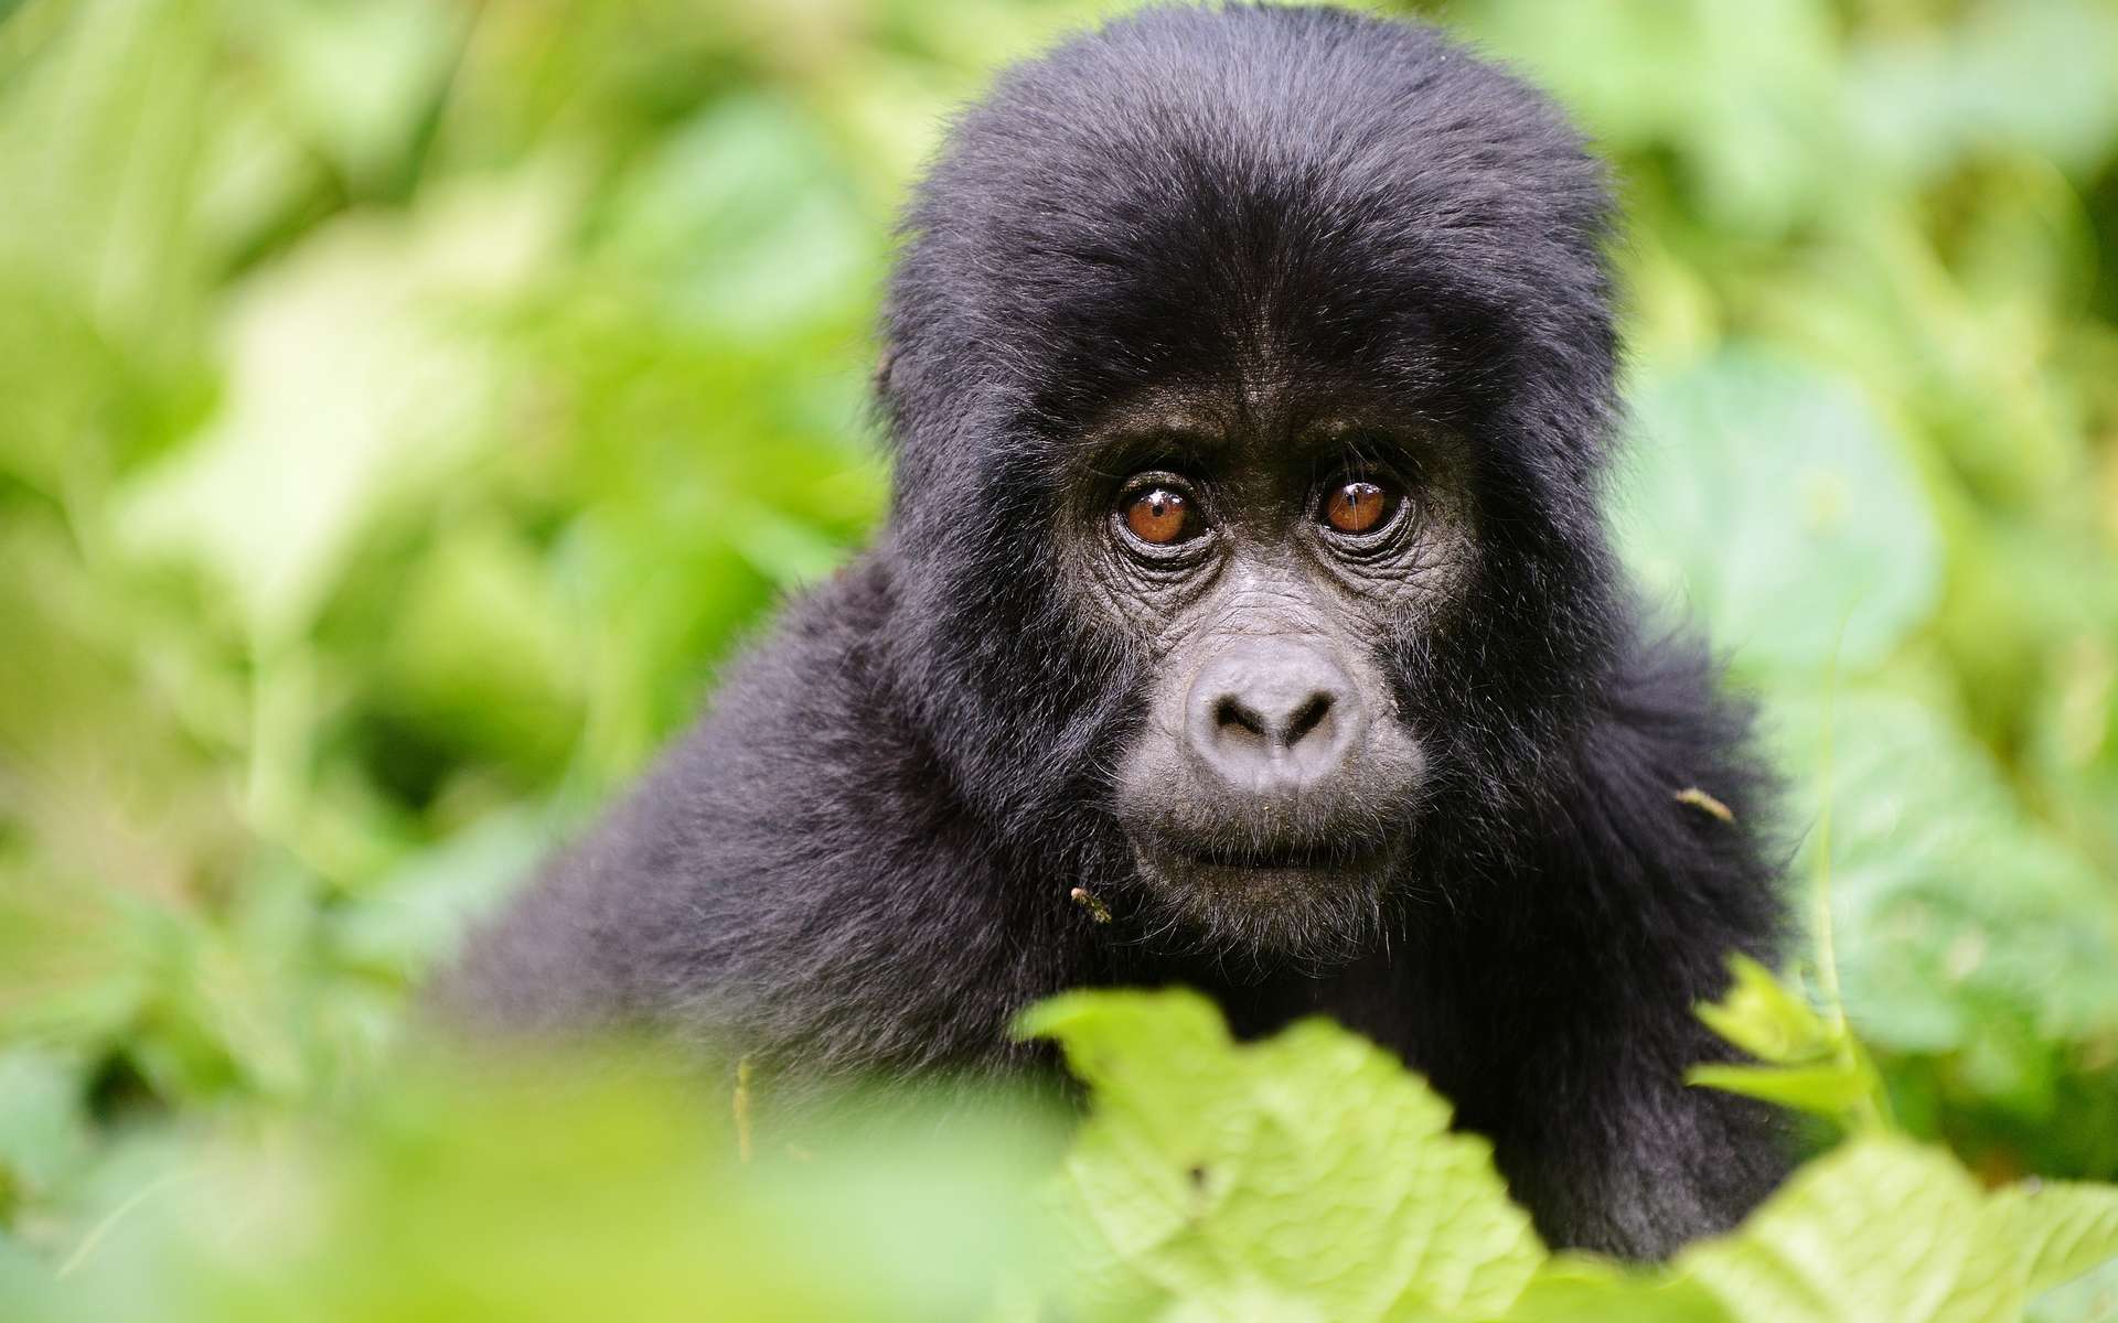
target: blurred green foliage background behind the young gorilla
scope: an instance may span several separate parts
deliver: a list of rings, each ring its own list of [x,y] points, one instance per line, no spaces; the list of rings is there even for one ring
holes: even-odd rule
[[[1900,1116],[2118,1175],[2118,2],[1417,8],[1616,163],[1625,544]],[[1110,13],[0,0],[0,1276],[358,1094],[860,544],[894,207]]]

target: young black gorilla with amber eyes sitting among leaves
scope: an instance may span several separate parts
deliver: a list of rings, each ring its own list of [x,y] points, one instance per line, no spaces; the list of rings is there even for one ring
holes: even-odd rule
[[[1186,982],[1402,1054],[1552,1243],[1735,1221],[1775,1128],[1684,1069],[1771,957],[1766,783],[1610,552],[1608,220],[1419,25],[1161,8],[1004,74],[904,222],[877,546],[457,1005],[790,1088],[1048,1071],[1029,1001]]]

